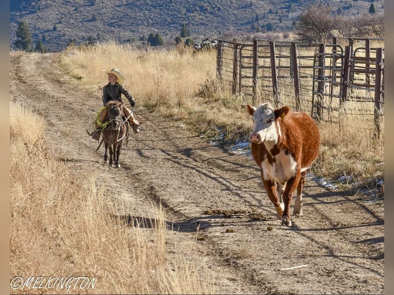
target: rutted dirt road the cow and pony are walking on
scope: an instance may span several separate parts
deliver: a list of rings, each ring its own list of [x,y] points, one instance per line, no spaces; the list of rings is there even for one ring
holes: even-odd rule
[[[281,227],[249,156],[207,143],[138,101],[142,132],[123,149],[115,176],[103,148],[96,152],[97,142],[85,132],[101,97],[76,88],[57,53],[11,52],[10,95],[45,117],[60,160],[80,177],[95,173],[131,216],[149,220],[151,202],[161,200],[169,253],[207,265],[218,292],[384,292],[384,206],[309,178],[304,216]],[[115,179],[124,186],[114,186]]]

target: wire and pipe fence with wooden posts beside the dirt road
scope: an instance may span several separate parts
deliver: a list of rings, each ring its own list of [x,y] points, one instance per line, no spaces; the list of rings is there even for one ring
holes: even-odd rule
[[[217,76],[233,95],[341,123],[357,115],[380,136],[384,110],[384,40],[334,38],[305,44],[255,38],[219,40]]]

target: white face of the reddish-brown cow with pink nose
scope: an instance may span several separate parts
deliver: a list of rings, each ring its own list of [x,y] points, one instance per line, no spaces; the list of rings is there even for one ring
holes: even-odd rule
[[[250,141],[254,143],[276,144],[278,142],[278,131],[275,123],[274,109],[270,104],[263,103],[258,108],[251,107],[249,113],[250,111],[253,112],[252,118],[254,122]]]

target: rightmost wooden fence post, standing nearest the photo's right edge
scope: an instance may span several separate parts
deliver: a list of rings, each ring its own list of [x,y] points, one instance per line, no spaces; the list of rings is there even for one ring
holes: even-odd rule
[[[375,65],[375,107],[373,113],[373,120],[375,123],[374,138],[380,138],[382,131],[382,64],[383,64],[383,48],[376,50],[376,65]]]

